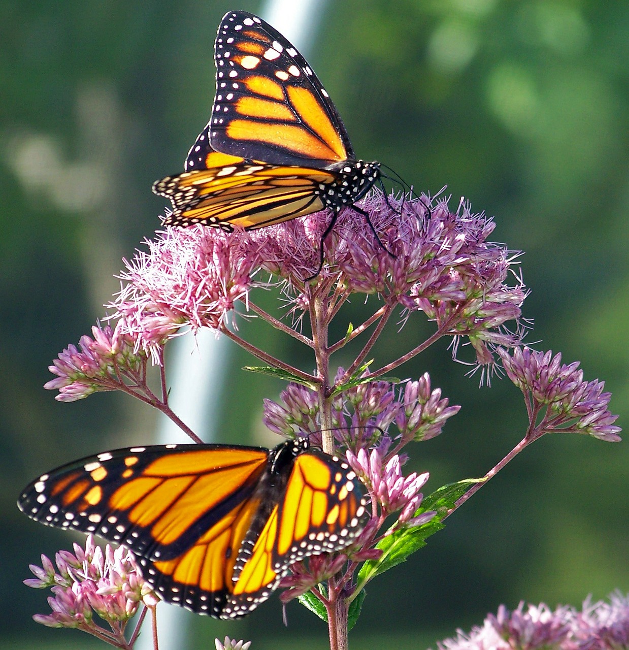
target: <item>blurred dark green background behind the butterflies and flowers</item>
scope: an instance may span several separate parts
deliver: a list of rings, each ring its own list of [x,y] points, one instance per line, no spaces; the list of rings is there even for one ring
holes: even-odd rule
[[[72,540],[29,521],[15,500],[55,465],[153,439],[155,413],[139,402],[101,394],[60,404],[42,385],[51,360],[103,315],[121,258],[159,226],[164,200],[151,183],[181,169],[209,118],[212,42],[231,8],[222,0],[0,3],[0,648],[97,645],[31,621],[47,612],[47,594],[21,584],[27,565]],[[623,426],[629,3],[337,1],[325,6],[308,59],[359,157],[386,162],[418,190],[447,185],[453,206],[465,196],[495,215],[494,240],[526,251],[529,340],[582,361],[587,379],[606,380]],[[240,326],[252,340],[268,337],[255,322]],[[419,336],[407,327],[393,345],[395,333],[381,339],[379,358]],[[400,370],[413,378],[428,370],[463,406],[443,435],[409,450],[409,471],[430,471],[432,489],[485,473],[526,425],[515,387],[479,389],[448,343]],[[272,347],[312,366],[284,339]],[[209,387],[230,400],[221,441],[254,440],[263,397],[281,390],[244,374],[248,363],[234,350],[223,385]],[[628,591],[628,469],[625,443],[542,439],[426,549],[370,586],[352,647],[434,647],[500,603],[579,604],[588,593]],[[252,650],[326,647],[318,619],[295,603],[288,615],[285,628],[277,598],[239,623],[190,614],[185,646],[230,634],[252,639]]]

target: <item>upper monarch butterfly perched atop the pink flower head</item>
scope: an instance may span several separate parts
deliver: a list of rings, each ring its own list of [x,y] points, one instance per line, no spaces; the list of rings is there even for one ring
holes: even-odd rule
[[[212,116],[188,153],[186,171],[153,185],[172,201],[163,224],[253,229],[329,207],[323,243],[340,209],[379,178],[379,163],[355,159],[339,113],[307,61],[261,18],[225,14],[214,61]]]

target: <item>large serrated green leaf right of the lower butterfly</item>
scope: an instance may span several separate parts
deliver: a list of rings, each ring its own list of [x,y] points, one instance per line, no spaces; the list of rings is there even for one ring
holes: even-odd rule
[[[368,560],[358,572],[358,588],[365,586],[369,580],[377,575],[389,571],[392,567],[405,562],[409,555],[426,546],[426,538],[445,527],[442,523],[448,511],[454,508],[459,497],[475,483],[487,480],[486,478],[466,478],[457,483],[439,487],[432,494],[422,500],[422,505],[415,512],[415,517],[424,512],[436,510],[437,514],[427,523],[411,528],[402,528],[387,535],[376,545],[383,551],[379,560]]]

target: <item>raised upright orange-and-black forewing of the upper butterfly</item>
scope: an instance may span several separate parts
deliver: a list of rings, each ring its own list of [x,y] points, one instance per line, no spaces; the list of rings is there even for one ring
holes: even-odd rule
[[[253,14],[225,14],[214,44],[213,149],[271,164],[324,168],[353,159],[326,90],[297,49]]]

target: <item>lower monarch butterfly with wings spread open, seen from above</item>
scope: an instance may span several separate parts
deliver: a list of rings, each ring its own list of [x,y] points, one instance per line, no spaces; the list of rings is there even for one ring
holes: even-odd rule
[[[307,438],[109,451],[40,476],[18,507],[124,543],[164,601],[225,619],[265,601],[294,562],[348,547],[368,517],[356,474]]]

